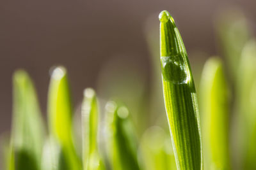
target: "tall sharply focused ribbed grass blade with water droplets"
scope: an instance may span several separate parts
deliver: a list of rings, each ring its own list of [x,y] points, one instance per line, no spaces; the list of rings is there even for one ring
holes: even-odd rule
[[[198,106],[186,49],[170,13],[162,11],[159,20],[164,103],[177,169],[202,169]]]

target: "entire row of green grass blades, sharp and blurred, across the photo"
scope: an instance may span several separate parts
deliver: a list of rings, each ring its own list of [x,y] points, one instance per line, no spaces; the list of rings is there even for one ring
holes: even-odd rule
[[[16,71],[6,169],[256,169],[256,41],[249,39],[250,29],[241,13],[227,16],[217,22],[217,29],[228,62],[211,57],[205,63],[199,115],[188,54],[179,30],[168,11],[159,14],[161,76],[170,134],[154,125],[138,135],[141,130],[133,125],[125,104],[108,101],[101,114],[102,104],[95,90],[88,88],[84,90],[79,120],[82,146],[76,146],[74,108],[65,67],[56,67],[51,74],[48,128],[41,117],[33,81],[26,71]],[[159,113],[163,113],[161,109]],[[147,118],[136,118],[140,118],[139,127],[144,128]]]

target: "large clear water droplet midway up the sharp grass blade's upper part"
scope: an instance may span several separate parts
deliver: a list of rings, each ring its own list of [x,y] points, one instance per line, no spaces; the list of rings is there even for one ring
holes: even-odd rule
[[[165,81],[174,84],[187,83],[188,72],[181,54],[161,57],[162,74]]]

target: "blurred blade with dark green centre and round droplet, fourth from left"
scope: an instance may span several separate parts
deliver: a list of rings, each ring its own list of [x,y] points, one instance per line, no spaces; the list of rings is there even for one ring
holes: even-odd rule
[[[108,153],[113,170],[140,169],[137,157],[135,131],[125,106],[114,102],[106,104],[108,115]]]

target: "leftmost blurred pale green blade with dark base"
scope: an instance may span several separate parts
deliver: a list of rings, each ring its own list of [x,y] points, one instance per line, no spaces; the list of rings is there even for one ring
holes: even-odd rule
[[[40,169],[44,128],[35,87],[23,70],[13,74],[12,141],[15,169]]]

